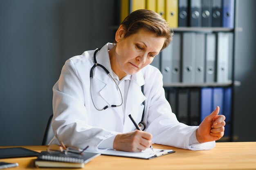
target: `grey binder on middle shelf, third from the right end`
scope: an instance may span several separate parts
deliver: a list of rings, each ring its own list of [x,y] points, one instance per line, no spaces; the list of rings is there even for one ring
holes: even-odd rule
[[[204,82],[204,60],[205,60],[205,35],[196,33],[195,38],[195,83]]]

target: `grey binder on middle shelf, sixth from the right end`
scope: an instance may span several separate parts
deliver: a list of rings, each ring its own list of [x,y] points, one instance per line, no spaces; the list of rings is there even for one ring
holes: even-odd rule
[[[172,66],[173,42],[171,42],[161,52],[161,72],[163,75],[163,83],[171,83],[171,66]]]

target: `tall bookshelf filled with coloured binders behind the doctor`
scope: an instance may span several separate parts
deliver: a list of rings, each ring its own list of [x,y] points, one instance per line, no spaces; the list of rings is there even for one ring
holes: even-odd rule
[[[132,3],[135,4],[134,0],[129,0],[129,1],[130,1],[130,4]],[[183,2],[186,1],[187,9],[181,8],[180,6],[181,1]],[[218,4],[219,6],[218,6],[218,9],[216,8],[214,9],[212,4],[210,4],[209,7],[205,6],[205,4],[200,4],[198,8],[195,9],[195,8],[192,8],[191,6],[193,3],[195,3],[195,1],[197,3],[198,2],[203,3],[206,1],[208,1],[209,3],[219,3]],[[145,0],[145,3],[146,3],[145,7],[147,7],[148,2],[149,1]],[[153,1],[150,1],[150,2],[152,3]],[[166,3],[167,2],[168,1],[166,1]],[[205,99],[204,91],[211,91],[211,99],[209,99],[209,102],[211,102],[212,106],[211,108],[208,109],[209,111],[207,111],[207,113],[204,113],[204,116],[206,114],[209,115],[216,106],[223,107],[220,110],[220,114],[223,114],[223,115],[226,114],[225,116],[227,117],[227,121],[226,121],[227,135],[225,135],[222,138],[222,141],[232,141],[233,126],[234,126],[232,124],[234,86],[240,86],[239,81],[234,81],[235,32],[241,31],[241,28],[234,27],[235,0],[234,1],[233,0],[216,0],[214,2],[212,0],[202,0],[202,1],[201,0],[173,0],[173,2],[175,3],[177,2],[177,4],[174,3],[175,5],[177,5],[175,6],[175,8],[177,8],[176,9],[177,14],[180,13],[180,10],[185,10],[188,13],[187,19],[185,22],[183,22],[182,25],[180,25],[180,22],[178,20],[182,20],[184,18],[181,19],[179,18],[180,16],[176,16],[178,19],[177,19],[177,22],[175,19],[175,23],[172,20],[170,20],[170,17],[168,19],[166,18],[166,20],[170,23],[171,29],[174,32],[173,42],[170,44],[173,47],[170,47],[170,49],[168,49],[169,47],[166,48],[169,51],[168,53],[170,53],[171,51],[171,53],[170,54],[167,53],[167,55],[164,49],[159,54],[159,56],[155,57],[151,65],[159,68],[159,70],[162,72],[163,82],[164,82],[163,87],[166,92],[166,99],[171,104],[173,113],[176,114],[177,119],[187,125],[194,126],[194,125],[200,124],[200,122],[204,118],[202,115],[203,115],[203,112],[205,111],[204,104],[202,102],[203,98]],[[233,2],[234,4],[231,4]],[[225,5],[227,5],[227,3],[230,3],[229,5],[231,8],[229,12],[231,14],[231,17],[229,18],[231,19],[227,19],[227,16],[230,16],[230,15],[227,15],[227,16],[225,15],[227,11],[225,11],[226,8],[224,7],[226,7]],[[157,9],[157,7],[158,6],[156,4],[155,11],[161,11]],[[212,7],[212,11],[210,9],[211,7]],[[167,8],[168,7],[165,7],[164,9],[168,11]],[[218,19],[218,21],[216,20],[216,18],[212,18],[212,20],[209,20],[209,21],[212,21],[212,22],[209,22],[209,26],[205,26],[202,24],[204,22],[203,18],[200,21],[200,20],[194,20],[193,17],[189,16],[193,12],[193,10],[198,10],[199,12],[201,10],[201,13],[202,13],[202,11],[204,11],[205,9],[209,9],[209,11],[212,12],[212,14],[216,10],[220,10],[220,12],[223,15],[222,14],[220,15],[221,17]],[[128,7],[127,11],[131,12],[134,10],[136,9],[134,9],[134,6],[132,6],[132,7]],[[121,13],[122,13],[122,9],[121,9]],[[168,15],[167,12],[161,12],[161,14],[162,13],[165,14],[163,15],[164,18],[166,17],[166,15]],[[173,15],[173,13],[171,15]],[[221,20],[225,22],[222,22]],[[192,22],[196,22],[196,23],[192,24]],[[194,26],[194,25],[197,25],[197,26]],[[112,27],[112,29],[117,29],[117,28],[118,28],[117,26]],[[196,40],[197,37],[200,37],[200,38]],[[211,40],[214,39],[214,41],[211,42],[212,46],[214,46],[214,49],[211,49],[210,48],[211,45],[208,45],[209,44],[208,39],[210,39],[210,37],[211,37]],[[177,41],[179,42],[175,45]],[[200,52],[198,53],[193,52],[193,50],[191,49],[196,49],[196,50],[202,49],[201,52],[203,54],[200,54]],[[187,50],[191,50],[191,51],[187,51]],[[210,50],[212,51],[208,52]],[[210,60],[209,58],[207,58],[207,55],[209,53],[210,54],[214,53],[211,56],[211,57],[214,57],[214,62],[212,65],[214,75],[211,77],[210,80],[209,78],[207,78],[209,74],[208,72],[209,72],[209,60]],[[188,56],[190,54],[194,55],[193,59],[191,58],[188,59]],[[198,63],[197,58],[199,56],[198,54],[201,55],[201,58],[202,56],[204,57],[204,59],[200,59],[200,60],[203,60],[203,61],[200,61],[202,65],[202,67],[200,67],[200,71],[201,73],[202,72],[204,73],[202,73],[202,75],[198,74],[199,76],[201,76],[199,81],[195,80],[198,77],[198,75],[192,75],[193,76],[191,78],[192,80],[189,79],[187,81],[187,77],[191,75],[186,75],[186,69],[189,71],[191,70],[189,67],[186,66],[186,64],[184,64],[184,61],[192,60],[193,61],[193,64],[192,64],[193,66],[191,66],[191,68],[193,68],[192,72],[196,72],[196,70],[199,70],[199,67],[197,66],[197,63]],[[175,55],[179,55],[179,64],[176,64],[177,68],[173,66],[174,60],[177,59],[177,56],[175,57]],[[225,61],[226,63],[224,64],[225,66],[222,63],[223,57],[226,60]],[[221,72],[223,70],[225,70],[225,72]],[[174,72],[176,72],[175,74],[179,74],[179,75],[174,75]],[[191,74],[194,74],[194,73],[191,73]],[[176,78],[173,78],[175,76]],[[223,79],[222,77],[224,76],[225,78]],[[197,122],[197,123],[193,123],[193,122]]]

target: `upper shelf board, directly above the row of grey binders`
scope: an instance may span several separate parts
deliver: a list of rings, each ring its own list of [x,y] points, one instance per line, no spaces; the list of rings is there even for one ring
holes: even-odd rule
[[[230,32],[234,29],[224,28],[224,27],[177,27],[173,28],[174,32]]]

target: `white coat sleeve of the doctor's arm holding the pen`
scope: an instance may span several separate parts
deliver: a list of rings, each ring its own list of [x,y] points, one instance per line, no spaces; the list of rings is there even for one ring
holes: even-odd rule
[[[89,75],[88,75],[89,77]],[[90,126],[85,107],[84,89],[72,60],[67,60],[58,82],[53,87],[52,128],[58,141],[97,151],[105,139],[117,135],[104,128]]]

